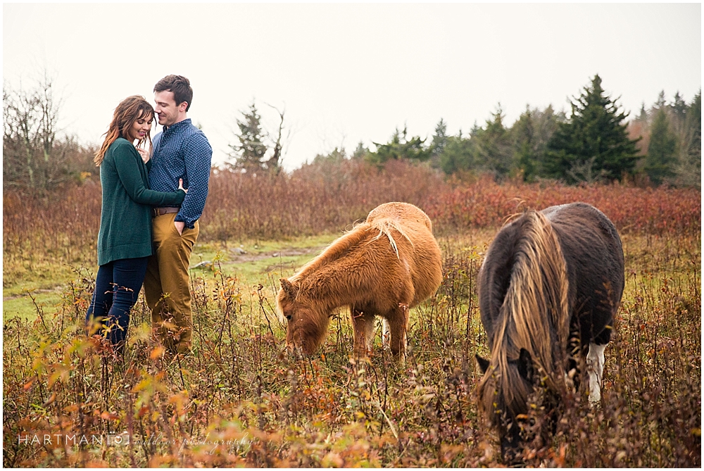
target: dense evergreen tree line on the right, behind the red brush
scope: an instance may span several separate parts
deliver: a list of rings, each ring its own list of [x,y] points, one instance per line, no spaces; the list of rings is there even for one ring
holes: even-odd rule
[[[522,178],[578,182],[639,179],[653,184],[700,186],[701,91],[691,103],[677,93],[672,103],[662,92],[649,111],[626,122],[595,75],[572,99],[571,113],[555,113],[552,106],[526,109],[507,127],[501,105],[483,127],[464,134],[447,134],[440,120],[430,142],[408,137],[396,129],[389,142],[373,143],[375,151],[359,144],[352,158],[383,164],[391,159],[428,162],[448,175],[489,173],[496,180]],[[324,158],[341,158],[334,149]]]

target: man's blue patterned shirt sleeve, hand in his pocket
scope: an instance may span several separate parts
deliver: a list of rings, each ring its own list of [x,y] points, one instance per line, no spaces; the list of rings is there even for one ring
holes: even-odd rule
[[[184,186],[187,185],[188,194],[183,200],[181,211],[174,220],[183,221],[186,227],[191,229],[201,217],[203,207],[206,206],[212,158],[213,149],[201,132],[189,137],[184,143],[184,163],[186,164]]]

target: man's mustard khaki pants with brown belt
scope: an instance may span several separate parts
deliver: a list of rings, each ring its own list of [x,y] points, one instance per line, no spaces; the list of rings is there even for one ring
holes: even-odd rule
[[[199,226],[196,221],[193,229],[184,227],[179,234],[175,218],[176,213],[152,218],[154,255],[146,265],[144,296],[163,345],[172,353],[187,353],[193,332],[188,265]]]

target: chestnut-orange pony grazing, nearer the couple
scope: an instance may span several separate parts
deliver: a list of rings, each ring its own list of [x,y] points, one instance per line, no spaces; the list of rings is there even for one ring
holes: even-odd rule
[[[280,280],[276,303],[287,319],[287,346],[312,354],[333,310],[348,306],[354,355],[367,356],[379,315],[390,329],[391,352],[403,362],[408,310],[435,293],[441,267],[432,222],[423,211],[408,203],[378,206],[296,275]]]

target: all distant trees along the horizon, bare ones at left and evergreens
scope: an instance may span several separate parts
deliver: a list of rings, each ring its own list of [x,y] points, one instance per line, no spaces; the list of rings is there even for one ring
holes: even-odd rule
[[[567,183],[640,180],[643,184],[700,187],[701,90],[687,103],[679,94],[668,103],[662,92],[653,106],[641,106],[626,121],[616,99],[604,91],[601,77],[571,101],[571,112],[556,113],[552,106],[531,108],[507,127],[499,105],[483,126],[448,135],[447,123],[437,123],[431,139],[409,136],[406,127],[395,130],[389,142],[374,142],[370,150],[360,142],[352,153],[334,149],[313,163],[346,158],[373,165],[405,159],[442,170],[447,175],[493,175],[497,181],[519,178]],[[279,122],[265,129],[256,103],[237,119],[230,144],[230,165],[236,171],[282,170],[284,111],[274,106]],[[78,144],[58,129],[61,99],[51,77],[30,89],[3,87],[3,187],[42,193],[65,184],[80,184],[96,175],[92,146]],[[96,180],[96,179],[93,179]]]

